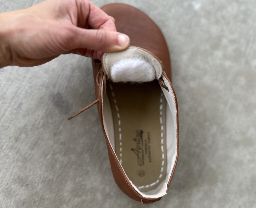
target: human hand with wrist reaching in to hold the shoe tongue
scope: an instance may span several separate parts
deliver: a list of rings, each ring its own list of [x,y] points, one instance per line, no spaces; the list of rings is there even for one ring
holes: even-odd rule
[[[67,53],[101,59],[129,44],[114,19],[88,0],[47,0],[0,14],[0,68],[37,66]]]

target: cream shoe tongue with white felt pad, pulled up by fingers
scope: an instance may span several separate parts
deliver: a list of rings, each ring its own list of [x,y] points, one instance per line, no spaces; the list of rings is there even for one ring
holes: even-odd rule
[[[124,51],[104,53],[102,67],[113,82],[149,82],[163,74],[162,62],[149,51],[130,46]]]

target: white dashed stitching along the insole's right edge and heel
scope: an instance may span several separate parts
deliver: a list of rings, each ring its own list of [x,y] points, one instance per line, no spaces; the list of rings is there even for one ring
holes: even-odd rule
[[[161,171],[160,171],[160,175],[158,178],[162,178],[163,176],[163,170],[164,170],[164,126],[163,126],[163,118],[162,118],[162,109],[163,109],[163,92],[161,92],[161,97],[160,97],[160,107],[159,107],[159,110],[160,110],[160,124],[161,124],[161,151],[162,151],[162,164],[161,164]],[[142,188],[148,188],[150,186],[154,186],[156,185],[157,183],[159,182],[159,179],[157,179],[154,183],[151,183],[149,185],[145,185],[145,186],[140,186],[138,187],[138,189],[142,189]]]

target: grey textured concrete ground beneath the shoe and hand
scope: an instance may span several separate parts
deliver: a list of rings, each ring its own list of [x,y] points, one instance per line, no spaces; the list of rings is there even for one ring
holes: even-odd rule
[[[0,0],[0,11],[39,1]],[[96,5],[114,1],[93,1]],[[128,1],[120,1],[128,2]],[[256,2],[130,0],[162,29],[179,105],[180,155],[150,205],[112,177],[90,60],[0,69],[0,207],[256,207]]]

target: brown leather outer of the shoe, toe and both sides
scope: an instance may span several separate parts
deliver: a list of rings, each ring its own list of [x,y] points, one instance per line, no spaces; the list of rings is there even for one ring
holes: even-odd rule
[[[164,65],[164,73],[163,76],[167,78],[170,86],[173,86],[169,81],[171,79],[171,68],[170,68],[170,58],[168,47],[164,36],[157,25],[142,11],[125,4],[109,4],[102,7],[103,11],[108,15],[115,18],[116,28],[118,32],[125,33],[130,37],[130,43],[132,46],[137,46],[144,48],[147,51],[150,51],[156,57],[158,57],[162,64]],[[139,20],[139,21],[138,21]],[[141,203],[152,203],[161,199],[159,198],[145,198],[142,197],[140,193],[138,193],[131,185],[129,179],[126,177],[117,157],[113,149],[111,148],[111,144],[108,140],[106,132],[104,130],[103,124],[103,115],[102,115],[102,96],[101,96],[101,86],[103,82],[103,74],[100,75],[99,80],[96,81],[97,74],[100,70],[101,62],[99,60],[92,60],[93,65],[93,74],[94,74],[94,82],[95,82],[95,97],[99,99],[97,103],[98,113],[100,117],[100,122],[102,125],[103,133],[106,139],[106,144],[108,148],[110,165],[113,173],[114,180],[118,187],[130,198],[141,202]],[[174,92],[174,90],[173,90]],[[175,95],[175,92],[174,92]],[[178,105],[177,99],[175,95],[175,102],[177,106],[177,141],[178,141]],[[173,173],[176,167],[178,159],[178,150],[177,150],[177,158],[175,161],[175,165],[172,171],[172,174],[169,178],[167,186],[173,177]]]

